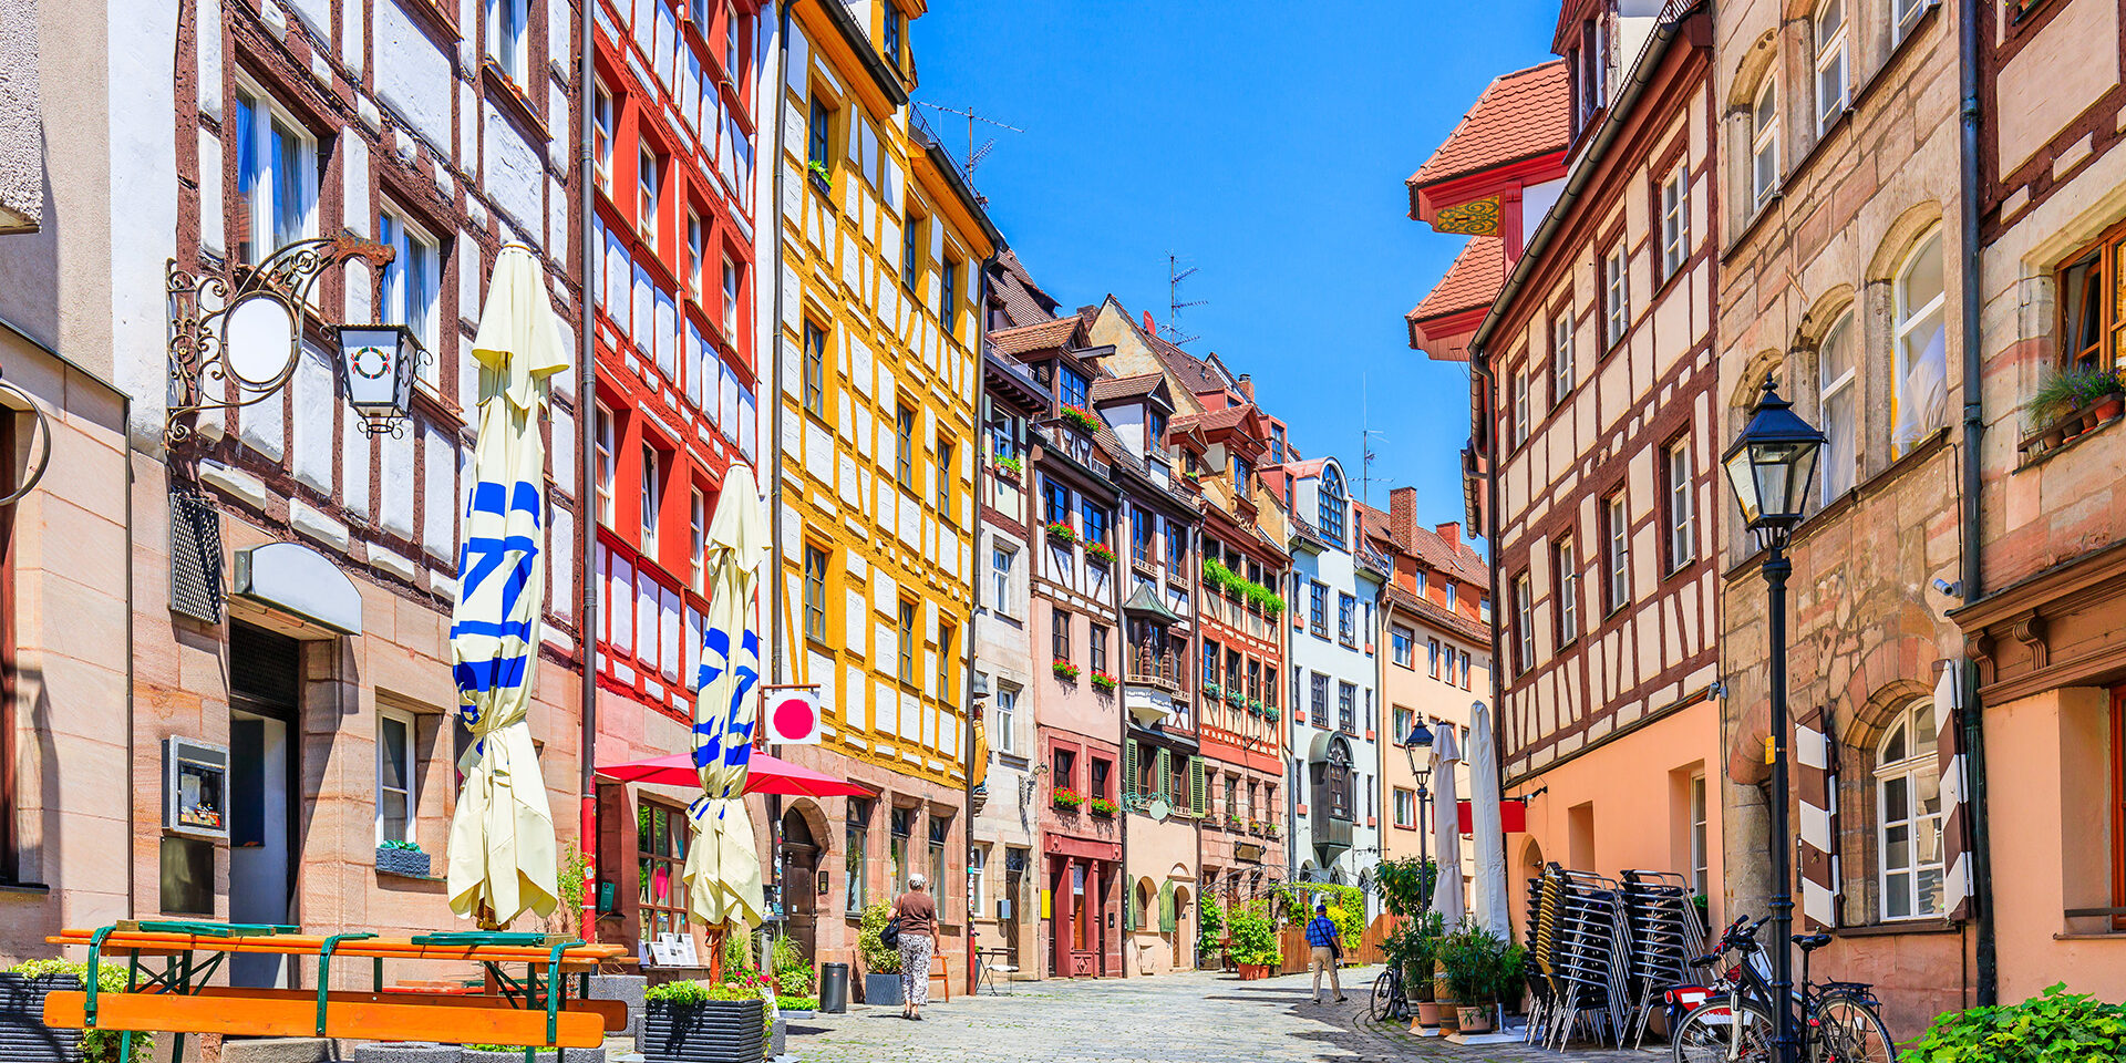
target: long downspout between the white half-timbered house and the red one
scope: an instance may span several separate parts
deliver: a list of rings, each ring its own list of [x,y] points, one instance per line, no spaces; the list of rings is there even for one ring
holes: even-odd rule
[[[583,219],[576,225],[576,249],[583,253],[583,321],[576,327],[576,591],[583,595],[576,608],[576,644],[580,646],[578,661],[583,663],[583,689],[576,695],[580,702],[580,723],[583,738],[578,740],[580,753],[580,787],[583,787],[583,810],[580,823],[576,827],[576,844],[587,848],[591,859],[591,876],[583,884],[583,912],[576,927],[583,940],[597,940],[597,640],[591,636],[593,621],[597,617],[597,578],[591,570],[591,559],[597,557],[597,514],[593,512],[591,497],[597,480],[597,446],[593,446],[591,434],[597,432],[597,285],[593,283],[591,255],[604,249],[591,247],[591,236],[597,232],[593,219],[597,217],[597,181],[591,179],[595,168],[595,147],[591,140],[591,106],[597,94],[597,23],[591,15],[593,4],[583,4],[583,17],[576,21],[576,34],[580,43],[580,53],[576,60],[576,185],[578,185],[578,210]]]

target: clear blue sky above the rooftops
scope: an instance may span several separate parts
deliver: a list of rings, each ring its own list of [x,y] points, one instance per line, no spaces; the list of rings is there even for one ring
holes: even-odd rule
[[[1407,219],[1403,179],[1492,77],[1550,60],[1554,4],[1492,0],[933,0],[916,100],[1025,132],[976,170],[989,213],[1063,308],[1116,293],[1165,323],[1167,253],[1199,272],[1182,330],[1248,372],[1310,455],[1373,504],[1418,487],[1458,521],[1469,376],[1407,344],[1403,313],[1463,238]],[[955,153],[965,119],[925,111]]]

